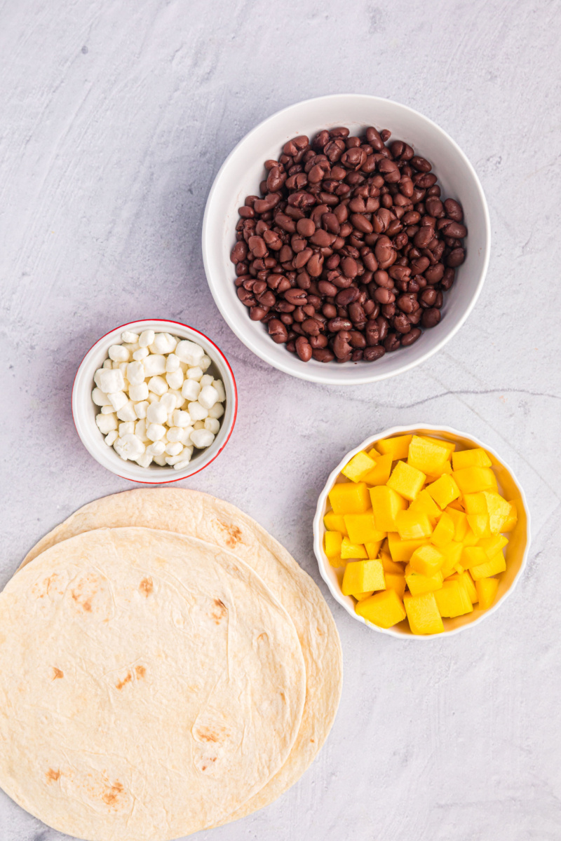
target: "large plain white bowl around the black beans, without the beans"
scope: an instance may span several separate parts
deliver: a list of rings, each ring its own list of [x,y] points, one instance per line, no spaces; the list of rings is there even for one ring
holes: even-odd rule
[[[263,163],[277,159],[282,146],[296,135],[310,138],[321,129],[345,125],[352,134],[366,126],[389,129],[395,140],[406,140],[415,153],[433,164],[442,193],[463,205],[468,226],[466,260],[444,296],[442,321],[423,331],[414,345],[386,353],[376,362],[302,362],[284,345],[276,345],[260,322],[251,321],[236,294],[235,267],[230,251],[236,242],[238,208],[247,195],[259,192]],[[216,305],[243,343],[265,362],[294,377],[315,383],[356,385],[413,368],[431,357],[463,325],[483,286],[490,252],[490,219],[483,189],[474,167],[457,143],[436,123],[400,103],[363,94],[334,94],[283,108],[249,132],[226,158],[214,179],[203,222],[204,269]]]

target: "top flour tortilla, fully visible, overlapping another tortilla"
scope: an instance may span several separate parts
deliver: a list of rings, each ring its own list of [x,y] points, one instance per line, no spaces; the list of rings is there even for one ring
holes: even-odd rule
[[[220,821],[282,767],[304,696],[288,613],[193,537],[86,532],[0,594],[0,784],[77,838]]]

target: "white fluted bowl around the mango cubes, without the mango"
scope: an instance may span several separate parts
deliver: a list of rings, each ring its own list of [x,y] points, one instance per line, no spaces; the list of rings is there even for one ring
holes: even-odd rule
[[[336,484],[337,479],[340,477],[341,479],[345,479],[344,476],[341,476],[342,468],[345,467],[345,465],[357,454],[357,452],[361,452],[361,450],[372,447],[373,444],[380,441],[382,438],[391,438],[395,435],[409,435],[411,432],[414,435],[430,435],[435,438],[443,438],[445,441],[461,445],[462,449],[483,447],[484,451],[489,455],[489,458],[493,463],[493,467],[495,468],[494,472],[497,478],[497,484],[499,485],[499,493],[505,495],[507,500],[516,501],[516,510],[518,514],[518,522],[508,536],[509,542],[505,549],[506,570],[500,575],[499,589],[497,590],[493,606],[491,606],[487,611],[480,611],[475,605],[472,613],[464,614],[464,616],[457,616],[454,619],[443,619],[444,632],[430,634],[427,636],[411,633],[406,619],[393,627],[381,628],[365,621],[363,616],[358,616],[355,612],[355,601],[350,595],[343,595],[341,593],[341,578],[343,569],[341,568],[337,570],[332,567],[324,552],[325,526],[323,518],[325,516],[325,512],[331,509],[327,495],[333,485]],[[363,622],[363,625],[368,625],[368,627],[373,628],[374,631],[388,634],[389,637],[407,637],[408,639],[421,640],[435,639],[450,636],[451,634],[464,631],[468,627],[479,625],[479,622],[483,621],[485,616],[490,616],[491,613],[495,613],[495,611],[497,611],[500,605],[504,602],[506,596],[514,590],[516,583],[521,578],[521,574],[526,567],[529,549],[530,512],[528,510],[524,491],[521,489],[520,484],[518,484],[511,468],[491,447],[488,447],[483,442],[478,441],[478,439],[474,438],[474,436],[467,435],[465,432],[458,432],[458,430],[452,429],[450,426],[430,426],[429,424],[420,424],[417,426],[392,426],[391,429],[386,429],[378,435],[373,435],[367,438],[366,441],[363,441],[363,443],[358,447],[355,447],[354,450],[347,452],[345,458],[343,458],[342,461],[337,464],[335,470],[330,473],[329,479],[327,479],[327,483],[325,484],[325,488],[320,493],[314,517],[315,557],[317,558],[317,562],[320,567],[321,577],[324,579],[325,584],[329,587],[331,595],[342,607],[345,608],[347,613],[349,613],[353,619]],[[337,572],[339,572],[339,574],[337,574]]]

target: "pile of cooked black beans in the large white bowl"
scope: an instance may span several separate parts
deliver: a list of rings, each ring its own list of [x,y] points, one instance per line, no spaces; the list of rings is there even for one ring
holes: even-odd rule
[[[237,294],[303,362],[373,362],[441,320],[463,211],[426,158],[372,126],[288,140],[239,209]]]

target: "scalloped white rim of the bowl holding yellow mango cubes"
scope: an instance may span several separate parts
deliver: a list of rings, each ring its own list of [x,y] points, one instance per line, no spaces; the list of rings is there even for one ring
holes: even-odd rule
[[[324,529],[324,531],[325,531],[325,526],[323,526],[323,516],[324,516],[323,510],[325,508],[325,502],[327,500],[327,495],[328,495],[329,491],[331,490],[331,488],[333,487],[333,484],[335,484],[335,480],[336,480],[337,476],[339,475],[339,473],[341,473],[341,469],[345,467],[345,465],[347,464],[349,459],[351,459],[353,456],[355,456],[357,454],[357,452],[361,452],[361,450],[363,450],[365,447],[370,447],[373,443],[375,443],[377,441],[380,441],[382,438],[389,438],[389,437],[392,437],[392,436],[395,436],[395,435],[402,435],[402,434],[407,435],[410,432],[415,432],[415,430],[421,430],[421,429],[431,430],[431,431],[434,431],[434,432],[447,432],[449,435],[458,436],[458,437],[461,437],[461,438],[467,438],[468,441],[474,442],[474,444],[477,447],[482,447],[484,450],[487,450],[493,456],[495,456],[495,458],[502,465],[502,467],[504,467],[508,471],[508,473],[510,473],[512,481],[516,484],[516,487],[520,492],[521,502],[522,502],[522,505],[524,507],[524,512],[525,512],[526,518],[527,518],[526,547],[524,548],[524,553],[522,554],[520,569],[518,570],[514,579],[512,580],[512,583],[511,583],[511,586],[509,587],[509,589],[506,590],[505,593],[503,593],[503,595],[500,597],[500,600],[495,602],[494,605],[492,605],[487,611],[484,611],[481,614],[481,616],[478,616],[478,618],[475,619],[473,622],[468,622],[467,625],[460,625],[459,627],[452,628],[449,631],[445,630],[442,633],[435,633],[435,634],[407,633],[406,634],[406,633],[402,633],[402,632],[399,632],[399,631],[394,631],[393,627],[382,628],[382,627],[378,627],[378,625],[373,625],[371,622],[366,621],[363,618],[363,616],[359,616],[354,610],[351,609],[351,607],[349,605],[347,605],[347,602],[344,601],[344,599],[347,598],[347,597],[342,595],[341,590],[339,588],[337,588],[335,586],[335,584],[333,584],[333,582],[331,581],[330,577],[327,574],[326,563],[329,563],[329,562],[327,562],[325,560],[325,558],[323,557],[324,556],[324,552],[323,552],[323,532],[321,530]],[[331,473],[329,474],[329,477],[327,478],[327,482],[325,483],[325,486],[320,493],[320,496],[318,498],[318,502],[317,502],[317,505],[316,505],[316,508],[315,508],[313,530],[314,530],[314,553],[315,553],[315,558],[318,562],[318,567],[320,569],[321,578],[324,579],[325,584],[327,584],[327,587],[328,587],[331,595],[333,596],[333,598],[338,602],[338,604],[341,605],[341,607],[343,607],[347,611],[349,616],[352,616],[353,619],[356,619],[357,621],[362,622],[363,625],[366,625],[371,630],[377,631],[379,633],[384,633],[388,637],[394,637],[394,639],[397,638],[397,639],[401,639],[401,640],[415,639],[415,640],[422,640],[422,641],[425,641],[425,642],[427,640],[434,640],[434,639],[442,639],[442,638],[445,638],[445,637],[452,637],[455,634],[458,634],[462,631],[468,630],[468,628],[476,627],[480,624],[480,622],[484,621],[484,619],[486,619],[487,616],[490,616],[492,613],[497,611],[499,609],[499,607],[504,603],[507,596],[511,595],[512,591],[515,590],[516,584],[518,584],[519,580],[521,579],[521,576],[522,576],[522,574],[524,573],[524,570],[527,567],[527,559],[528,559],[528,554],[530,552],[530,545],[531,545],[531,542],[532,542],[531,516],[530,516],[530,509],[528,508],[527,497],[526,497],[526,494],[524,493],[524,489],[522,488],[520,482],[518,481],[518,479],[516,479],[516,474],[513,472],[511,466],[505,462],[505,460],[499,455],[498,452],[496,452],[496,450],[493,447],[489,447],[486,444],[484,444],[483,442],[479,441],[479,438],[476,438],[473,435],[468,435],[466,432],[462,432],[462,431],[459,431],[457,429],[454,429],[453,426],[437,426],[436,424],[430,424],[430,423],[427,423],[427,424],[417,423],[417,424],[412,424],[410,426],[390,426],[388,429],[384,429],[383,431],[381,431],[377,435],[368,436],[368,438],[366,438],[361,444],[359,444],[358,447],[354,447],[352,450],[347,452],[347,455],[344,456],[344,458],[341,458],[341,461],[337,464],[336,468],[331,470]]]

